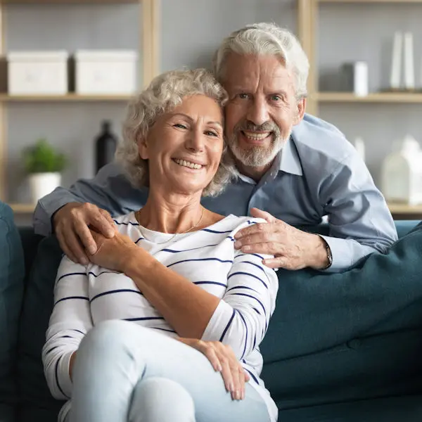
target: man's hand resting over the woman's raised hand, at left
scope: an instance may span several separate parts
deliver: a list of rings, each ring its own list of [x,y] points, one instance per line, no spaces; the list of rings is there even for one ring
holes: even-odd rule
[[[63,252],[82,265],[89,264],[85,250],[91,255],[97,250],[89,226],[108,238],[115,234],[110,214],[89,203],[68,203],[61,207],[53,216],[53,226]]]

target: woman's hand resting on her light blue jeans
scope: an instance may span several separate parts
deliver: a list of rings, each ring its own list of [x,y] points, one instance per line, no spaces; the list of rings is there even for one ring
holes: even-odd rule
[[[228,345],[219,341],[203,341],[196,338],[178,338],[185,345],[191,346],[205,354],[215,371],[221,372],[226,390],[231,392],[231,398],[245,398],[245,383],[250,380],[249,374],[236,358]]]

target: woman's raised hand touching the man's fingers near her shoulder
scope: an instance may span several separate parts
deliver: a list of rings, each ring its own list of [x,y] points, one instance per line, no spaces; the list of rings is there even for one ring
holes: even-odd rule
[[[106,238],[92,229],[90,231],[96,242],[97,250],[93,255],[87,252],[88,257],[93,264],[100,267],[124,272],[125,265],[143,251],[135,245],[131,238],[120,234],[117,229],[112,238]]]

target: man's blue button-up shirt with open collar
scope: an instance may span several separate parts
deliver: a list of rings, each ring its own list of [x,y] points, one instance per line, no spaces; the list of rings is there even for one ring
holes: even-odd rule
[[[34,229],[51,233],[51,217],[69,202],[90,202],[121,215],[146,203],[147,188],[134,188],[116,164],[106,165],[95,179],[79,180],[70,190],[57,188],[42,198],[34,212]],[[374,250],[385,252],[397,240],[388,206],[366,165],[333,125],[305,115],[271,168],[255,182],[243,174],[203,205],[222,215],[250,215],[253,207],[294,226],[328,220],[333,264],[342,271]]]

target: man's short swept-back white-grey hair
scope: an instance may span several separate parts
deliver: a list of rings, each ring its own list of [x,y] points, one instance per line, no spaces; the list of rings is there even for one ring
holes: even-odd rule
[[[224,81],[224,65],[231,52],[279,56],[286,68],[293,72],[296,98],[307,96],[309,60],[300,42],[290,31],[274,23],[254,23],[232,32],[215,53],[214,72],[220,82]]]

